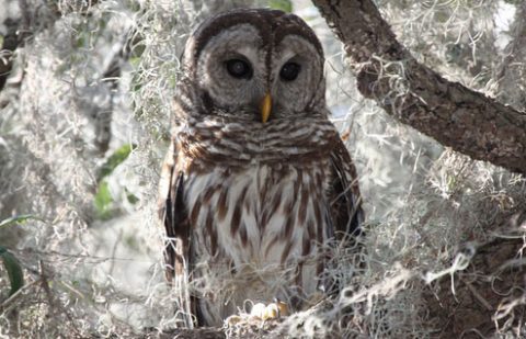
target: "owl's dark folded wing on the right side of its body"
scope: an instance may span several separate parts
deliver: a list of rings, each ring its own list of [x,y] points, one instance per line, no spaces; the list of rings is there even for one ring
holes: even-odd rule
[[[356,169],[345,145],[338,137],[331,152],[330,213],[332,230],[338,240],[352,240],[364,222]]]

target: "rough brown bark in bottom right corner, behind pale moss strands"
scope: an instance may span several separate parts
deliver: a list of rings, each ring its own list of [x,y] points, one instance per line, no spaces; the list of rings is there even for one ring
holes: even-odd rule
[[[524,338],[525,269],[517,258],[523,247],[522,238],[483,244],[468,269],[433,283],[423,297],[438,329],[436,338],[494,338],[503,332]]]

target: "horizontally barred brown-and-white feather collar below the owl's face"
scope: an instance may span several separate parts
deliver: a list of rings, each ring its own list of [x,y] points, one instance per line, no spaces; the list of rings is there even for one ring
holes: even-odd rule
[[[329,157],[338,138],[334,125],[327,118],[229,122],[207,116],[188,120],[176,128],[182,151],[193,159],[247,167],[254,163],[308,163]]]

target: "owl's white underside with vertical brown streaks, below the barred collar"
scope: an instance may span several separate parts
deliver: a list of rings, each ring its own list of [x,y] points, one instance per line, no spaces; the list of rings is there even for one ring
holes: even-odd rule
[[[241,303],[247,297],[270,302],[290,290],[311,295],[328,237],[322,171],[251,166],[230,172],[218,167],[188,178],[191,260],[201,270],[197,275],[238,283]]]

